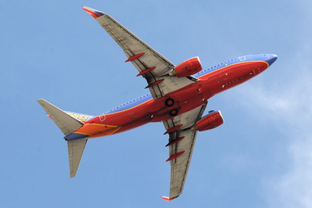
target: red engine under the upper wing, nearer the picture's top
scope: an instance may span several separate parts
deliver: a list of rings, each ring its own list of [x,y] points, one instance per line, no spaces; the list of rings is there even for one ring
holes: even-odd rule
[[[169,75],[171,77],[176,76],[178,78],[187,77],[201,71],[202,69],[203,67],[201,66],[199,58],[194,57],[177,65],[171,72],[169,72]]]

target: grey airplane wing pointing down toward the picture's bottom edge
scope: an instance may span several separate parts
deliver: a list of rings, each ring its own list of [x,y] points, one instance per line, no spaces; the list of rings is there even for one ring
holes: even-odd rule
[[[206,106],[207,102],[163,122],[167,131],[180,126],[180,129],[169,132],[169,143],[166,145],[169,147],[167,161],[170,161],[171,165],[170,195],[162,197],[166,201],[177,198],[183,191],[197,136],[197,130],[190,127],[202,117]]]

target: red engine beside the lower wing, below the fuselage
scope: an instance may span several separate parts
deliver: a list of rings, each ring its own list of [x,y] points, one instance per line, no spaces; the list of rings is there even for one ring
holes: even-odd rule
[[[220,111],[210,112],[208,115],[204,116],[195,125],[191,127],[192,130],[206,131],[213,129],[223,124],[224,120]]]

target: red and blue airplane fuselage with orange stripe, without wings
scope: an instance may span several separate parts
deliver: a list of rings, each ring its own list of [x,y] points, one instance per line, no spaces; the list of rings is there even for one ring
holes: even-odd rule
[[[149,122],[166,121],[202,105],[220,92],[257,76],[276,58],[271,54],[248,55],[203,69],[193,75],[198,79],[195,83],[156,100],[151,94],[142,95],[85,121],[82,127],[64,138],[66,140],[90,139],[120,133]],[[174,100],[174,104],[170,107],[165,104],[168,98]],[[170,115],[170,112],[175,109],[177,114]]]

